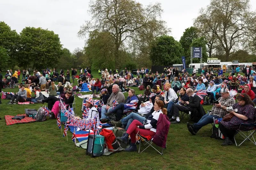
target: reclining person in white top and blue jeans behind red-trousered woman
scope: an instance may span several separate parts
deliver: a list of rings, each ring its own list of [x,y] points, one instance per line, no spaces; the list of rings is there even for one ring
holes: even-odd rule
[[[137,113],[132,112],[118,122],[111,121],[111,124],[120,128],[125,127],[126,130],[128,129],[128,127],[130,126],[133,120],[138,120],[143,124],[144,122],[147,121],[147,118],[144,115],[148,115],[151,112],[151,109],[155,104],[155,100],[159,100],[159,99],[160,99],[159,96],[156,96],[156,94],[152,93],[149,96],[149,101],[142,103]],[[153,109],[153,112],[154,112],[154,109]]]

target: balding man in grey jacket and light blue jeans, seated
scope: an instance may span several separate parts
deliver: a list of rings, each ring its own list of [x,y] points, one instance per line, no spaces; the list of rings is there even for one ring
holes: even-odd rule
[[[121,89],[119,88],[118,85],[113,85],[112,93],[111,93],[110,97],[108,98],[107,105],[103,105],[101,107],[101,119],[100,119],[100,121],[102,123],[108,122],[108,116],[106,116],[105,114],[108,111],[113,110],[113,101],[114,100],[116,100],[118,104],[125,102],[124,94],[122,93],[122,91],[121,91]]]

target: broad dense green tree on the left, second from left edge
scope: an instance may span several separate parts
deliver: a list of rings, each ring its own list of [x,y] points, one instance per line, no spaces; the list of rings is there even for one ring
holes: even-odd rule
[[[26,27],[20,33],[20,66],[53,67],[62,53],[60,38],[53,31]]]

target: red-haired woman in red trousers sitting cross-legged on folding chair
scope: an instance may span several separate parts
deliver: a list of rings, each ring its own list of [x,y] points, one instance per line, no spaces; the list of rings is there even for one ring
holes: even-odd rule
[[[160,114],[167,114],[166,108],[164,108],[164,102],[161,100],[157,100],[154,104],[154,112],[147,119],[147,124],[143,125],[138,120],[133,120],[127,129],[126,133],[122,137],[117,137],[118,141],[122,141],[124,143],[128,143],[128,137],[131,137],[131,145],[129,148],[126,148],[124,151],[132,152],[137,151],[136,143],[136,134],[140,132],[140,135],[143,136],[154,136],[156,134],[157,121]]]

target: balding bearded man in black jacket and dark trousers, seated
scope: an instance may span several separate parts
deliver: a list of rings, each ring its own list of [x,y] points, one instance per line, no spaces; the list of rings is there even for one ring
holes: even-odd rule
[[[185,106],[181,106],[179,104],[174,104],[172,106],[172,113],[171,115],[173,117],[176,117],[176,120],[172,123],[180,123],[180,117],[179,117],[179,111],[190,111],[192,112],[194,108],[197,108],[199,106],[200,98],[194,93],[193,89],[188,88],[186,90],[186,93],[189,97],[188,101],[185,102]],[[172,118],[172,120],[174,120]]]

